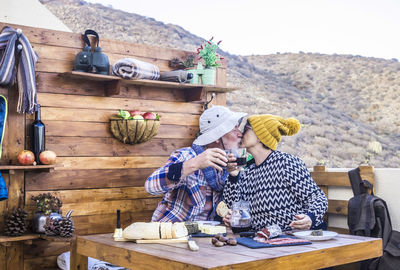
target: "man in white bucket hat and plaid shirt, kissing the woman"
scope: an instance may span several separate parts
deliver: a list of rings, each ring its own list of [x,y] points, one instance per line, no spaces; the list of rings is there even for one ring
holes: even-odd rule
[[[213,106],[200,116],[200,135],[191,147],[174,151],[146,180],[146,191],[164,198],[152,221],[213,220],[228,178],[225,149],[239,146],[246,113]],[[229,160],[231,161],[231,160]]]

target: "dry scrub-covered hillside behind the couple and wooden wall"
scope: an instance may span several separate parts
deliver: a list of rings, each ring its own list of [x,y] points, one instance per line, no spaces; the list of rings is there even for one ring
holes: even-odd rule
[[[180,26],[99,4],[41,2],[74,32],[93,28],[106,38],[189,51],[204,40]],[[278,149],[310,167],[354,167],[366,159],[375,167],[400,167],[397,60],[301,52],[221,54],[228,59],[228,84],[243,88],[228,94],[230,108],[294,116],[302,123],[299,134],[283,138]],[[381,153],[373,151],[376,142]]]

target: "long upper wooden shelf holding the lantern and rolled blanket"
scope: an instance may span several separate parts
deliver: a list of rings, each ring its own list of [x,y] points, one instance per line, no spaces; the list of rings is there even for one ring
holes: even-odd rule
[[[175,88],[185,90],[186,101],[200,101],[205,92],[226,93],[238,90],[238,87],[217,85],[187,84],[156,80],[126,80],[117,76],[101,75],[86,72],[70,71],[59,74],[61,77],[102,82],[107,96],[118,95],[121,85],[142,85],[159,88]]]

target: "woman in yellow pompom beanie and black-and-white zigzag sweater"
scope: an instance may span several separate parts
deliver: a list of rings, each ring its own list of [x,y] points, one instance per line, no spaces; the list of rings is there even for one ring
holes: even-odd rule
[[[254,159],[242,172],[231,168],[223,200],[229,207],[235,201],[248,201],[254,230],[272,224],[282,230],[326,228],[326,196],[301,159],[276,150],[282,135],[299,130],[300,123],[294,118],[270,114],[248,118],[242,147]],[[224,221],[229,224],[229,216]]]

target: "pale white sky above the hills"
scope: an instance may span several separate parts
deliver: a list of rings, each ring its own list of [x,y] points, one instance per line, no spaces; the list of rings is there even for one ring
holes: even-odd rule
[[[400,0],[87,0],[172,23],[232,54],[400,60]]]

